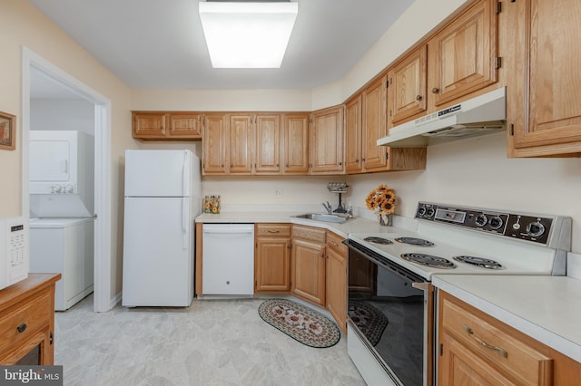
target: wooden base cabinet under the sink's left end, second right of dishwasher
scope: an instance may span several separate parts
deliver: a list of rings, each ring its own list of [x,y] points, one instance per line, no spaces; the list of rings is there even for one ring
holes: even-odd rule
[[[292,226],[291,293],[325,306],[325,230]]]

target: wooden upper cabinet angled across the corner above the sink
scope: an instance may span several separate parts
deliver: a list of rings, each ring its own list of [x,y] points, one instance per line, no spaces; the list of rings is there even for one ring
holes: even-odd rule
[[[343,106],[311,114],[310,174],[341,174],[343,164]]]

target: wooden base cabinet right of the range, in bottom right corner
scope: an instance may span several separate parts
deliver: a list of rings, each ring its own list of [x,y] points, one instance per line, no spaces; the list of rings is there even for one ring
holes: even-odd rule
[[[581,365],[497,319],[439,292],[438,384],[566,385]]]

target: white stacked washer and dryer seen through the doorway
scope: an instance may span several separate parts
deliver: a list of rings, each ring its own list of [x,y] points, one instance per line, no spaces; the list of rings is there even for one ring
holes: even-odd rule
[[[93,292],[94,137],[76,130],[29,132],[30,272],[60,272],[54,308]]]

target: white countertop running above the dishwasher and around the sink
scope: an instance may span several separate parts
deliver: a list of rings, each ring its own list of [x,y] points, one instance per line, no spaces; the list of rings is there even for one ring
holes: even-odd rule
[[[306,213],[300,212],[223,212],[217,215],[203,213],[196,217],[197,223],[290,223],[301,224],[310,227],[322,227],[329,229],[339,236],[347,237],[350,233],[382,233],[387,232],[388,227],[380,226],[378,221],[364,217],[350,218],[344,223],[328,223],[314,221],[306,218],[292,217]]]

